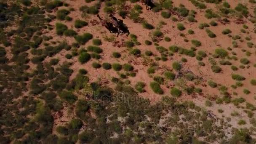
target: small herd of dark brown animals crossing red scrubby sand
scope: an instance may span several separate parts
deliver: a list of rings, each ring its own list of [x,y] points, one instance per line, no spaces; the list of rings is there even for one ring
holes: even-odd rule
[[[139,2],[142,3],[142,5],[146,6],[146,10],[152,10],[152,8],[155,7],[152,0],[140,0]],[[117,19],[112,14],[109,15],[111,22],[102,19],[99,14],[97,14],[97,17],[99,18],[101,25],[103,27],[106,27],[110,33],[117,33],[117,37],[119,36],[119,34],[123,35],[125,33],[127,34],[127,36],[130,35],[128,27],[123,23],[123,20]]]

